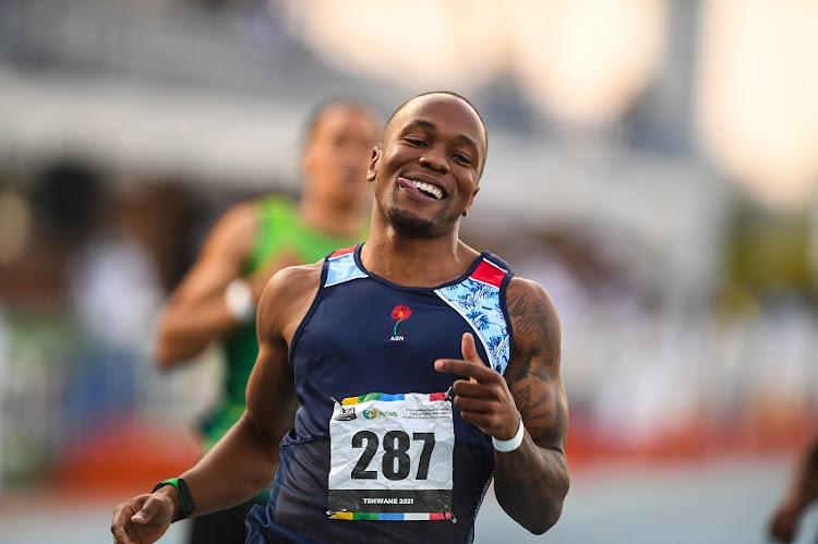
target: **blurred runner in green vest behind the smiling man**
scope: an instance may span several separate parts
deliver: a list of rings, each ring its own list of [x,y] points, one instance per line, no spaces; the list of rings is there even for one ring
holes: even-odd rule
[[[287,265],[314,263],[365,238],[366,161],[381,128],[363,104],[330,101],[308,125],[303,194],[262,197],[228,210],[205,240],[196,263],[171,294],[159,323],[156,359],[171,367],[220,340],[226,361],[221,400],[203,425],[205,449],[244,412],[244,389],[258,354],[255,306],[269,277]],[[244,540],[244,518],[266,494],[193,520],[195,544]]]

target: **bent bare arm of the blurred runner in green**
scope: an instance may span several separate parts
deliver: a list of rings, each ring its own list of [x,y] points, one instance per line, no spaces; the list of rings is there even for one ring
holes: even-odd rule
[[[225,291],[242,273],[255,229],[255,208],[246,203],[227,211],[209,232],[195,264],[163,310],[155,346],[160,366],[199,354],[237,325]]]

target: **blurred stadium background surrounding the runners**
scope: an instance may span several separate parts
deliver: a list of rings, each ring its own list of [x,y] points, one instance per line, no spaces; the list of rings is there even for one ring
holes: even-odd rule
[[[152,338],[207,229],[298,194],[320,101],[432,89],[490,134],[462,238],[563,323],[563,519],[533,539],[490,496],[477,542],[766,542],[818,428],[816,21],[816,0],[0,0],[0,543],[110,542],[116,504],[197,458],[220,355],[160,374]]]

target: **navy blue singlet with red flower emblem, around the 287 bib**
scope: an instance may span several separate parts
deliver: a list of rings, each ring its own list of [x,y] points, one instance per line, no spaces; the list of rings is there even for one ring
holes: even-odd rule
[[[454,410],[457,523],[333,520],[327,515],[330,397],[368,392],[440,392],[460,376],[434,370],[437,359],[462,359],[464,333],[480,358],[505,372],[512,330],[506,287],[513,276],[482,253],[467,273],[437,288],[402,287],[361,264],[361,245],[324,261],[321,287],[293,335],[290,364],[299,409],[281,440],[280,467],[266,510],[248,516],[248,543],[472,542],[474,520],[494,470],[491,438]]]

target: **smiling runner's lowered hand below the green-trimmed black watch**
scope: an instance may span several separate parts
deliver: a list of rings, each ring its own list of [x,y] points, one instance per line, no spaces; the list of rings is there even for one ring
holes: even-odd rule
[[[173,500],[164,493],[140,495],[113,509],[115,544],[151,544],[165,534],[173,517]]]

